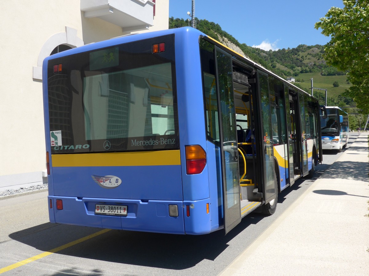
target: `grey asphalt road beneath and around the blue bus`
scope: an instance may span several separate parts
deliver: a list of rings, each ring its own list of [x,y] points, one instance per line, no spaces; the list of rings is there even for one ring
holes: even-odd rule
[[[357,132],[351,132],[349,144],[357,136]],[[217,275],[299,199],[341,154],[323,152],[323,164],[316,167],[313,179],[298,180],[279,194],[274,215],[265,217],[252,213],[227,236],[222,230],[202,236],[120,230],[102,233],[101,229],[91,227],[49,223],[47,192],[0,200],[0,273]],[[96,236],[90,236],[94,233]],[[285,233],[286,236],[295,234],[298,233],[293,233],[293,229]],[[84,239],[79,240],[81,238]]]

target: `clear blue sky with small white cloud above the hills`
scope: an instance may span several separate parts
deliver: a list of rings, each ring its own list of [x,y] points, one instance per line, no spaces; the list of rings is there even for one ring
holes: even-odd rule
[[[213,21],[240,43],[264,50],[325,45],[330,38],[314,28],[342,0],[196,0],[195,17]],[[192,0],[169,0],[169,17],[190,18]]]

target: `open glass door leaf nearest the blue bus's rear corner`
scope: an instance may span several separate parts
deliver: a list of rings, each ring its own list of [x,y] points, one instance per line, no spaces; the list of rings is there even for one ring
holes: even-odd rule
[[[233,96],[232,57],[215,47],[217,96],[224,193],[224,229],[227,234],[241,222],[236,116]]]

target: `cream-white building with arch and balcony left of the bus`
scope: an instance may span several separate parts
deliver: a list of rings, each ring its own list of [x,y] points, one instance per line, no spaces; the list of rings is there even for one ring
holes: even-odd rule
[[[42,61],[132,32],[168,29],[169,0],[1,1],[0,184],[45,171]],[[4,184],[6,183],[6,184]]]

